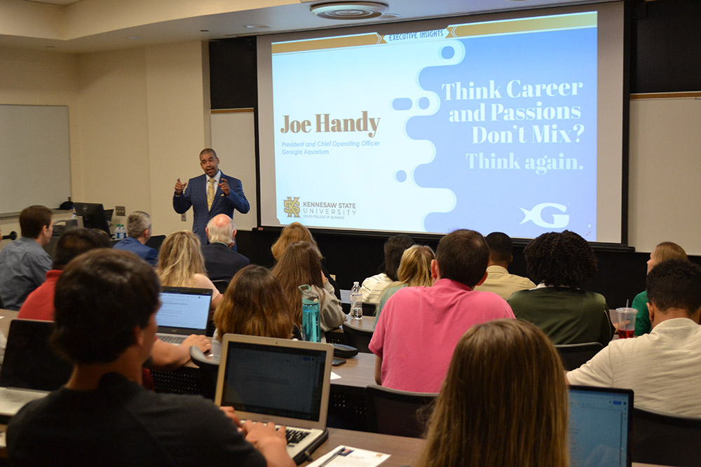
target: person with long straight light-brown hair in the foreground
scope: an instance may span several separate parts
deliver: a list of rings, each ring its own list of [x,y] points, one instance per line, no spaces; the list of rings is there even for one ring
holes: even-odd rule
[[[536,326],[499,319],[458,342],[417,467],[569,465],[567,385]]]

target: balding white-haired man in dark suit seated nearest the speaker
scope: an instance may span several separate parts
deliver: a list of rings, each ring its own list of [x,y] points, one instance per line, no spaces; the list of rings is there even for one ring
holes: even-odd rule
[[[210,244],[202,246],[202,255],[207,276],[212,281],[231,281],[233,274],[251,263],[248,258],[231,249],[236,242],[236,225],[231,217],[226,214],[212,217],[205,233]]]

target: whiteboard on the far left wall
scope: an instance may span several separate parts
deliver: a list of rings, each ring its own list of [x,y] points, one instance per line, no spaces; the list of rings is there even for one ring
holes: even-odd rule
[[[0,214],[70,195],[68,106],[0,105]]]

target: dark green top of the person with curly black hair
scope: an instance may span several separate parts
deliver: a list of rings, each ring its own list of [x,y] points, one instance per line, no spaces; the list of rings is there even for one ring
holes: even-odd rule
[[[515,316],[543,330],[553,344],[611,341],[613,326],[603,295],[567,287],[517,291],[508,300]]]

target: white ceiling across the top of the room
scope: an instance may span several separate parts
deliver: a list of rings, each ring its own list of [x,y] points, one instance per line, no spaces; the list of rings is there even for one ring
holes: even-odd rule
[[[395,18],[339,21],[312,15],[310,6],[325,2],[310,0],[0,0],[0,46],[87,53],[601,1],[381,0]]]

